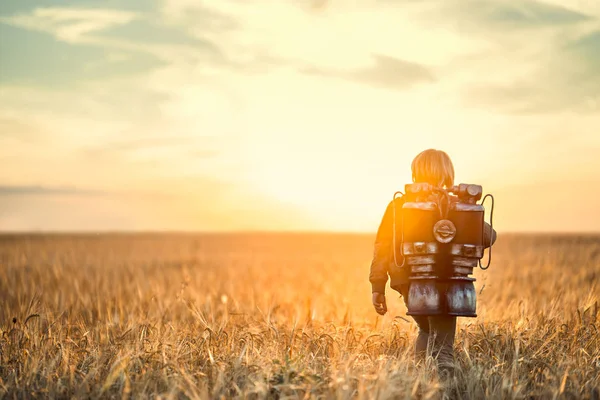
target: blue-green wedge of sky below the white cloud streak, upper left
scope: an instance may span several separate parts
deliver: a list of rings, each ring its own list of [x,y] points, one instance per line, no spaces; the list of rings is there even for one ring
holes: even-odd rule
[[[0,83],[41,86],[139,74],[161,65],[151,55],[72,45],[6,24],[0,24],[0,55]]]

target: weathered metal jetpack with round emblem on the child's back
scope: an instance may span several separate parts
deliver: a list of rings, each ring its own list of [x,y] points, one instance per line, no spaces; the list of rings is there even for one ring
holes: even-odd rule
[[[394,194],[394,263],[409,269],[408,315],[477,316],[475,278],[470,275],[478,265],[485,270],[491,264],[494,215],[494,197],[488,194],[478,203],[482,194],[480,185],[442,189],[428,183],[408,184],[405,193]],[[399,197],[404,198],[401,208]],[[492,230],[484,266],[488,198]]]

